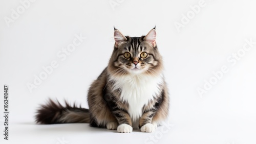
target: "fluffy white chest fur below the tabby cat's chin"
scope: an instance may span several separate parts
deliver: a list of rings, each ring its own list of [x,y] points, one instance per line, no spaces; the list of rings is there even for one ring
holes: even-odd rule
[[[121,88],[121,100],[129,104],[129,114],[133,123],[142,116],[142,108],[161,91],[159,84],[163,83],[162,75],[158,77],[145,75],[122,76],[115,79],[114,88]]]

